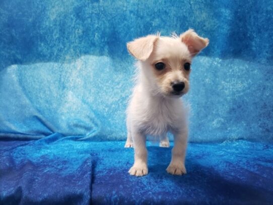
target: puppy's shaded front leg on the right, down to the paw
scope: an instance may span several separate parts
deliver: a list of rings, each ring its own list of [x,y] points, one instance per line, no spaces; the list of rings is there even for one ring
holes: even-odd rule
[[[172,149],[172,160],[168,168],[168,173],[174,175],[186,174],[185,155],[187,147],[187,131],[174,133],[174,147]]]

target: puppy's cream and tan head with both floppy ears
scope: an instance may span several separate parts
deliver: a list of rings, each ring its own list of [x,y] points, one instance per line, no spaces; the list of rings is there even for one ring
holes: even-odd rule
[[[131,55],[142,63],[155,94],[180,97],[189,90],[191,59],[209,44],[192,29],[179,37],[149,35],[127,43]]]

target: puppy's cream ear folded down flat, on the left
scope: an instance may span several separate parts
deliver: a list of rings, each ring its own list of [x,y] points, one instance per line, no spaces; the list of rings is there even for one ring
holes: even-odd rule
[[[158,39],[159,36],[156,35],[138,38],[134,41],[128,42],[127,49],[132,56],[139,60],[145,61],[153,52],[155,43]]]

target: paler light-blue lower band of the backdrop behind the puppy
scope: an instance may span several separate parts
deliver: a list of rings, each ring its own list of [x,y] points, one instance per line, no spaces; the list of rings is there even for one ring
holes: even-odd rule
[[[7,67],[0,72],[0,138],[60,132],[97,141],[125,140],[132,64],[88,55],[71,63]],[[272,142],[271,65],[198,56],[192,67],[191,90],[183,97],[191,107],[191,142]]]

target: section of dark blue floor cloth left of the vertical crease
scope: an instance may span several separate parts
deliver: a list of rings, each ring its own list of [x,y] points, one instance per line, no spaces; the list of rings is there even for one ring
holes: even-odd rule
[[[95,155],[55,133],[38,141],[0,142],[1,204],[89,204]]]

